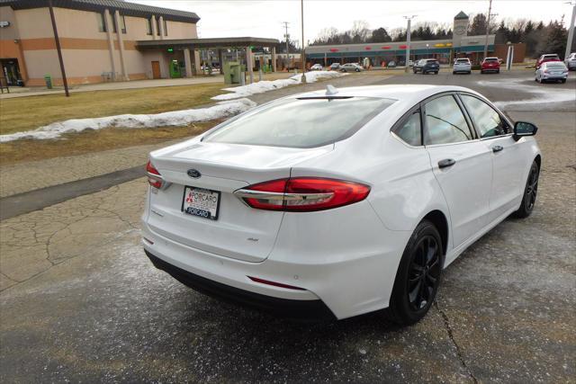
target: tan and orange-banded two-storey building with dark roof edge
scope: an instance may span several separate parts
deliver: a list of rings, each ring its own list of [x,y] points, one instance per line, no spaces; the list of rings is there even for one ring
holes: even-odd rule
[[[53,0],[69,84],[166,78],[173,62],[198,65],[198,53],[139,49],[148,40],[197,39],[196,13],[119,0]],[[6,81],[61,84],[58,53],[46,0],[0,0],[0,64]],[[176,61],[175,61],[176,60]],[[190,72],[188,71],[188,74]]]

